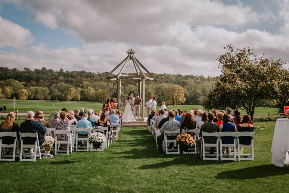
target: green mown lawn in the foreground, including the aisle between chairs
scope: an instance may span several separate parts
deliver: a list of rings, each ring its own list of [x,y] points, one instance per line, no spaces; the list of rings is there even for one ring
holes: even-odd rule
[[[20,123],[20,121],[18,121]],[[255,161],[203,161],[158,154],[145,128],[123,128],[95,159],[73,152],[34,162],[0,163],[0,192],[287,192],[288,167],[271,164],[275,122],[256,122]]]

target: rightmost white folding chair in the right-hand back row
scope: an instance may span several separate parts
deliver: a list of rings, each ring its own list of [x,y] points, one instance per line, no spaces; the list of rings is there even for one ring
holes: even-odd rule
[[[250,145],[240,144],[239,137],[245,137],[245,136],[252,137]],[[238,141],[238,160],[239,161],[241,160],[253,160],[254,161],[254,136],[255,136],[255,131],[254,132],[248,132],[248,131],[238,132],[237,141]],[[251,154],[243,154],[243,152],[240,152],[240,147],[251,147]],[[248,156],[248,157],[241,158],[241,156]]]

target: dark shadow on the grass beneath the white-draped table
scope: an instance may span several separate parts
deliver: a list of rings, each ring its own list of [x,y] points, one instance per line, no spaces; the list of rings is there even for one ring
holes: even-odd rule
[[[287,167],[277,167],[268,164],[220,172],[217,174],[216,179],[255,179],[284,174],[289,174]]]

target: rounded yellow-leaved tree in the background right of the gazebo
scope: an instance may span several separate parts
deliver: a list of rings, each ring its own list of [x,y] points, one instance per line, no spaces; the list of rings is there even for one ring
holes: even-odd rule
[[[185,101],[185,91],[181,86],[173,84],[169,87],[168,102],[171,103],[172,106],[184,103]]]

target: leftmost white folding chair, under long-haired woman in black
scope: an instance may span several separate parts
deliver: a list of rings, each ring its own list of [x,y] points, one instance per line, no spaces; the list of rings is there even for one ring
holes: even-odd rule
[[[3,144],[3,141],[2,139],[5,138],[5,137],[14,137],[14,144]],[[4,155],[4,153],[2,152],[2,148],[13,148],[13,155]],[[1,151],[1,154],[0,154],[0,161],[15,161],[15,155],[16,155],[16,147],[18,149],[18,152],[19,152],[19,144],[18,144],[18,138],[17,138],[17,132],[9,132],[9,131],[6,131],[6,132],[0,132],[0,151]],[[1,158],[1,155],[2,155],[2,158]],[[20,156],[20,155],[18,155]],[[5,158],[7,157],[7,158]],[[8,158],[8,157],[12,157],[11,158]]]

